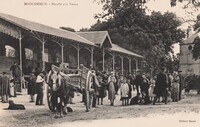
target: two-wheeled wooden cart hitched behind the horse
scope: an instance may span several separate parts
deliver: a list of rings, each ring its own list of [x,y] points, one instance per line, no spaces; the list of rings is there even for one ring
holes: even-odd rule
[[[55,68],[59,68],[54,66]],[[69,77],[67,82],[73,86],[75,89],[78,89],[80,93],[85,95],[84,103],[86,107],[86,112],[88,112],[91,108],[91,96],[90,96],[90,86],[89,81],[87,81],[88,76],[91,76],[89,73],[89,69],[83,65],[80,65],[80,69],[62,69],[63,72],[70,72],[67,74]],[[76,74],[72,73],[76,72]],[[66,80],[66,79],[65,79]],[[47,88],[47,102],[48,107],[51,111],[55,111],[55,106],[53,105],[52,99],[53,90],[50,86]]]

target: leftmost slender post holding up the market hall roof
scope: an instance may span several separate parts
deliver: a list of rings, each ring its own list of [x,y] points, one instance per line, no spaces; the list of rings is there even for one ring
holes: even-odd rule
[[[22,34],[19,31],[20,91],[22,91]]]

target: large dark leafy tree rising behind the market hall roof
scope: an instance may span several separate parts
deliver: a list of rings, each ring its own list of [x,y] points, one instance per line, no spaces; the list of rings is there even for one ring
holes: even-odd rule
[[[172,45],[182,42],[184,32],[178,27],[181,21],[175,14],[166,12],[145,13],[145,0],[101,0],[104,13],[90,30],[107,30],[112,42],[141,53],[146,57],[147,68],[164,66],[162,59],[172,52]]]

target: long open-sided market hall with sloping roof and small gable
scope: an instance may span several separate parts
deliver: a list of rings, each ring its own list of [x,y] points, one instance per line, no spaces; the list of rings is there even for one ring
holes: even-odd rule
[[[91,39],[91,38],[96,39]],[[21,74],[51,64],[80,64],[101,71],[137,71],[143,56],[112,43],[107,31],[70,32],[0,13],[0,71],[9,72],[14,61]]]

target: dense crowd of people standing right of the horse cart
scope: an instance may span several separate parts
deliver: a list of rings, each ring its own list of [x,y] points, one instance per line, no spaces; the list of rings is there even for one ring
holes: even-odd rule
[[[97,73],[102,87],[97,94],[97,104],[103,105],[103,98],[107,96],[110,105],[114,105],[116,95],[120,94],[122,105],[155,104],[157,102],[179,101],[181,99],[181,85],[178,72],[166,73],[166,68],[154,77],[147,77],[145,73],[124,76],[114,72]],[[108,92],[107,92],[108,91]],[[132,95],[136,91],[136,96]],[[94,107],[95,105],[93,105]]]

